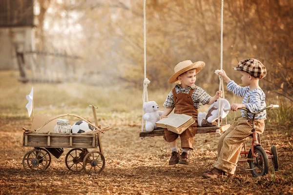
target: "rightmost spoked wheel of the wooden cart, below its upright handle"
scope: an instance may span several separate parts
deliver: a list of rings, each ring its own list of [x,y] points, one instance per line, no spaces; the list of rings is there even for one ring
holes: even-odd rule
[[[105,167],[105,157],[98,151],[92,151],[84,157],[84,171],[87,174],[99,174]]]

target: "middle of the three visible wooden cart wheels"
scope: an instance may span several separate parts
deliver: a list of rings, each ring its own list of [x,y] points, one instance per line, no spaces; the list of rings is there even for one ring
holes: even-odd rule
[[[80,148],[70,150],[65,157],[66,167],[74,172],[81,171],[83,169],[84,156],[84,150]]]

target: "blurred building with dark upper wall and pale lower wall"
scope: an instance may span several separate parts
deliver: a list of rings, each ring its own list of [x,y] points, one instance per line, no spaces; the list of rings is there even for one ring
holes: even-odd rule
[[[16,69],[16,51],[34,50],[34,36],[34,0],[0,0],[0,70]]]

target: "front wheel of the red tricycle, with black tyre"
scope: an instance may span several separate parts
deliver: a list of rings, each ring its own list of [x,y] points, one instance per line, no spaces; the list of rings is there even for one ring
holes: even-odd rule
[[[251,150],[248,153],[249,167],[251,169],[252,176],[265,176],[269,172],[269,160],[266,151],[261,146],[254,146],[254,155],[252,156]]]

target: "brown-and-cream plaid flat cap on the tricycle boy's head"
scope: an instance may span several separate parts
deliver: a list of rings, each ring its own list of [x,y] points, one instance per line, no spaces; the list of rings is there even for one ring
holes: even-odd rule
[[[242,59],[233,69],[247,72],[252,77],[259,79],[262,79],[267,75],[266,67],[260,61],[253,58]]]

